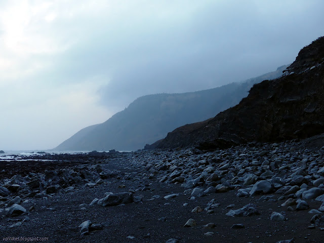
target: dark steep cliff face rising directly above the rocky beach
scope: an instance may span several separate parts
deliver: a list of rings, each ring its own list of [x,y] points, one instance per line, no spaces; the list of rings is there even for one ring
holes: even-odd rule
[[[304,47],[284,74],[254,85],[248,97],[214,118],[177,128],[155,147],[228,147],[324,132],[324,37]]]

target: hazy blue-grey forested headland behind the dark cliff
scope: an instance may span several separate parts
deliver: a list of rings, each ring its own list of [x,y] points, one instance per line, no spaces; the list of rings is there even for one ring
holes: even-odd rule
[[[179,126],[206,120],[236,105],[254,84],[280,76],[286,67],[210,90],[142,96],[104,123],[80,130],[55,150],[141,149]]]

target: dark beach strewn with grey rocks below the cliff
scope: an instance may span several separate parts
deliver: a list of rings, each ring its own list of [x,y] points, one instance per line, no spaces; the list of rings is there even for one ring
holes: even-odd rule
[[[2,161],[2,240],[323,242],[323,142]]]

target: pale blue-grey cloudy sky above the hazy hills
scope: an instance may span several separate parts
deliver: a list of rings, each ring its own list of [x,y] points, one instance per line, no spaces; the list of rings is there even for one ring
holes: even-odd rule
[[[0,150],[51,149],[136,98],[238,82],[324,35],[322,0],[0,1]]]

